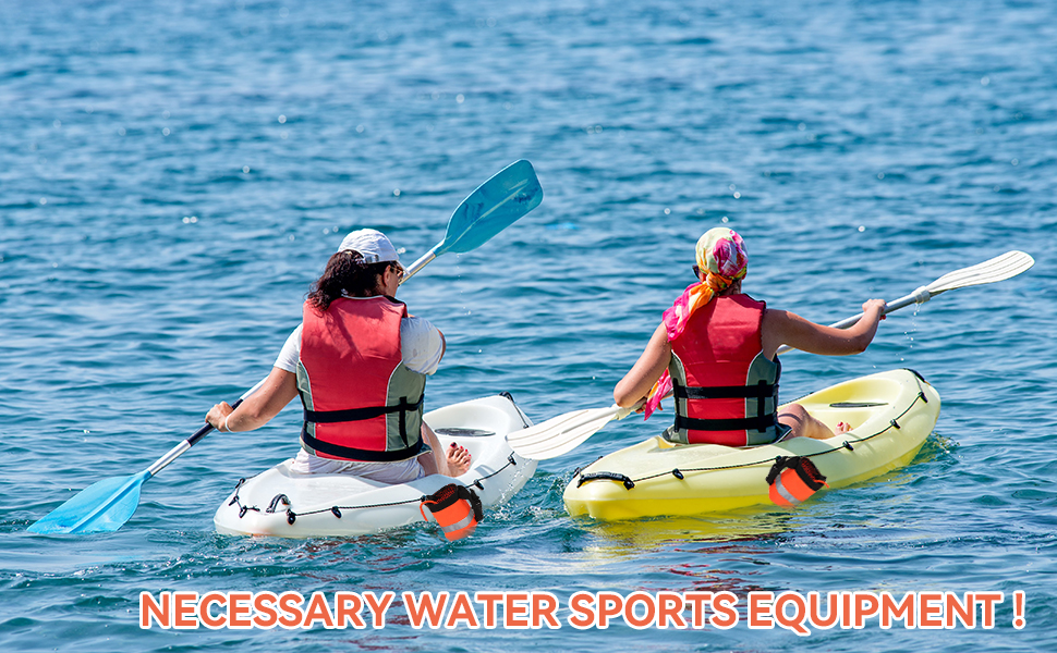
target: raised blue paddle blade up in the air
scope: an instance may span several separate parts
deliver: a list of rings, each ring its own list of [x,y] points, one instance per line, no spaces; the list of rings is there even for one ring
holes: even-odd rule
[[[532,163],[522,159],[497,172],[470,194],[448,221],[445,239],[433,249],[440,256],[481,247],[543,201]]]

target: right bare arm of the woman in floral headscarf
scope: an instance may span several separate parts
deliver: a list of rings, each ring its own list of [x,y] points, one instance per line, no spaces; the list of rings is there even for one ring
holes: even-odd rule
[[[763,319],[764,356],[774,360],[778,347],[789,345],[802,352],[827,356],[847,356],[866,349],[877,324],[885,319],[885,301],[871,299],[863,304],[863,317],[848,329],[834,329],[805,320],[797,313],[767,309]]]

